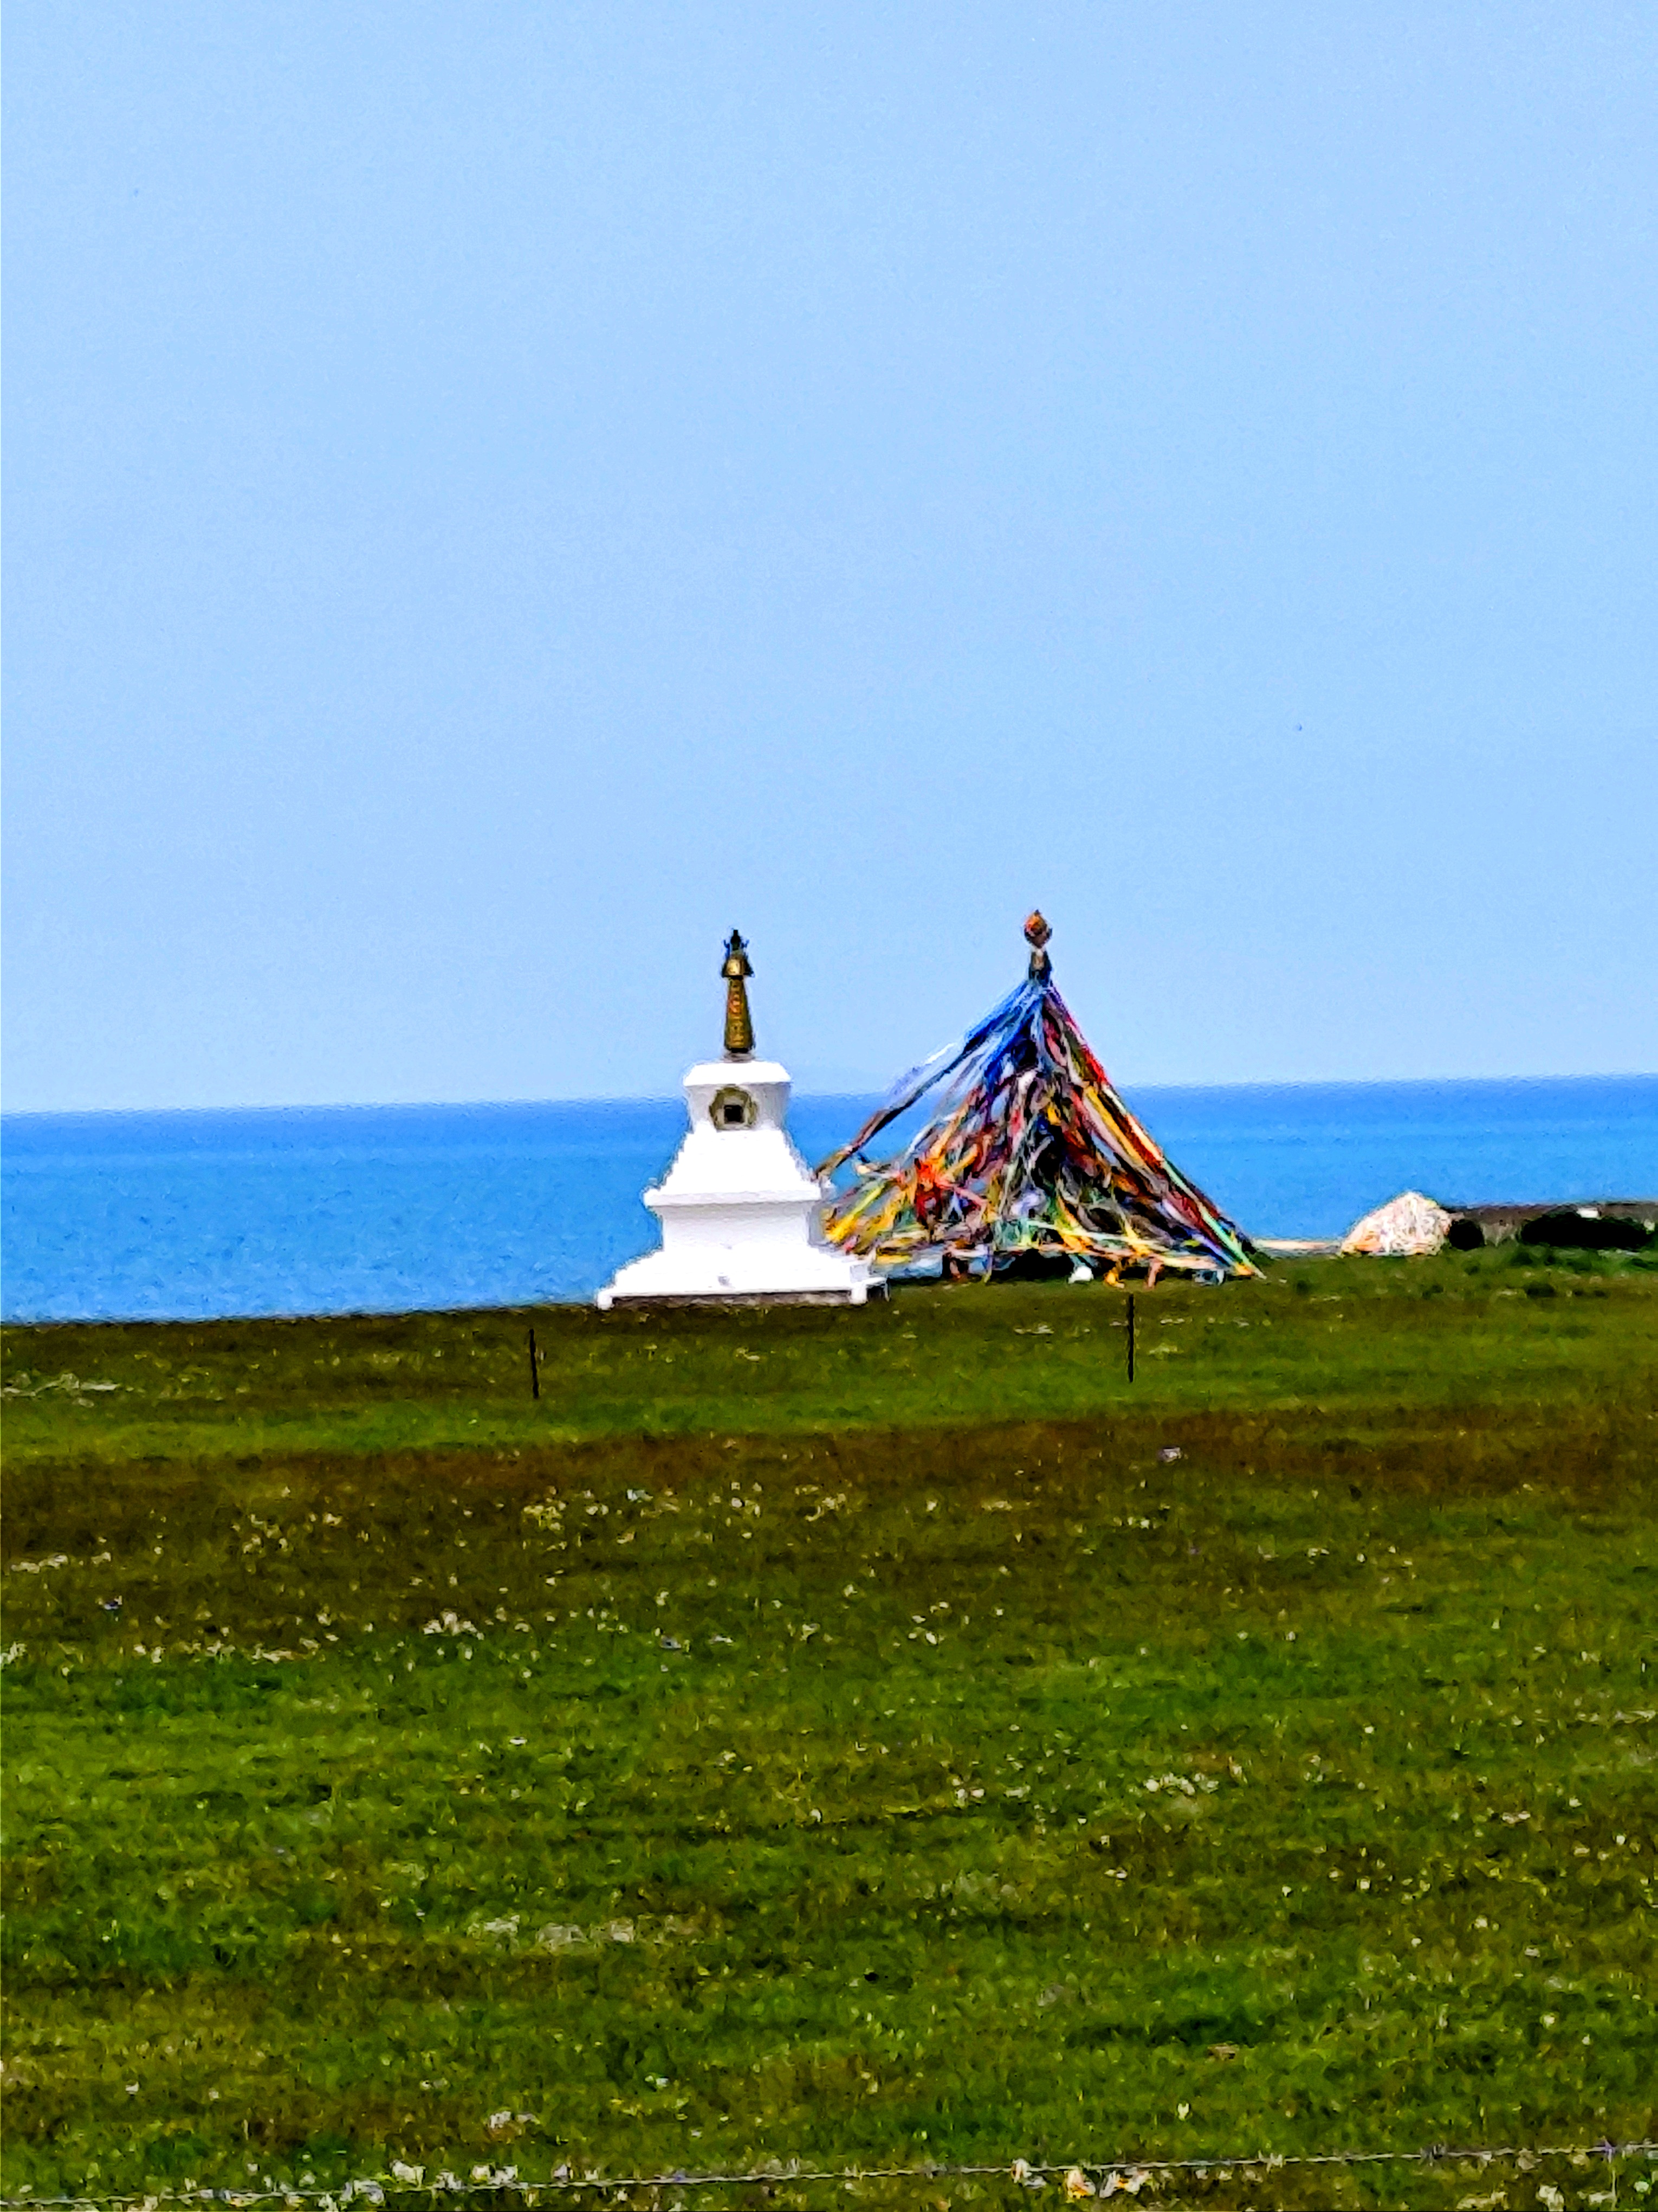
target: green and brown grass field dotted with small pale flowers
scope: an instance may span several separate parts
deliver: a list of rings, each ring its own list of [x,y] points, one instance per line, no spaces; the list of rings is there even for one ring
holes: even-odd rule
[[[7,2192],[1651,2132],[1658,1272],[1121,1318],[7,1329]]]

